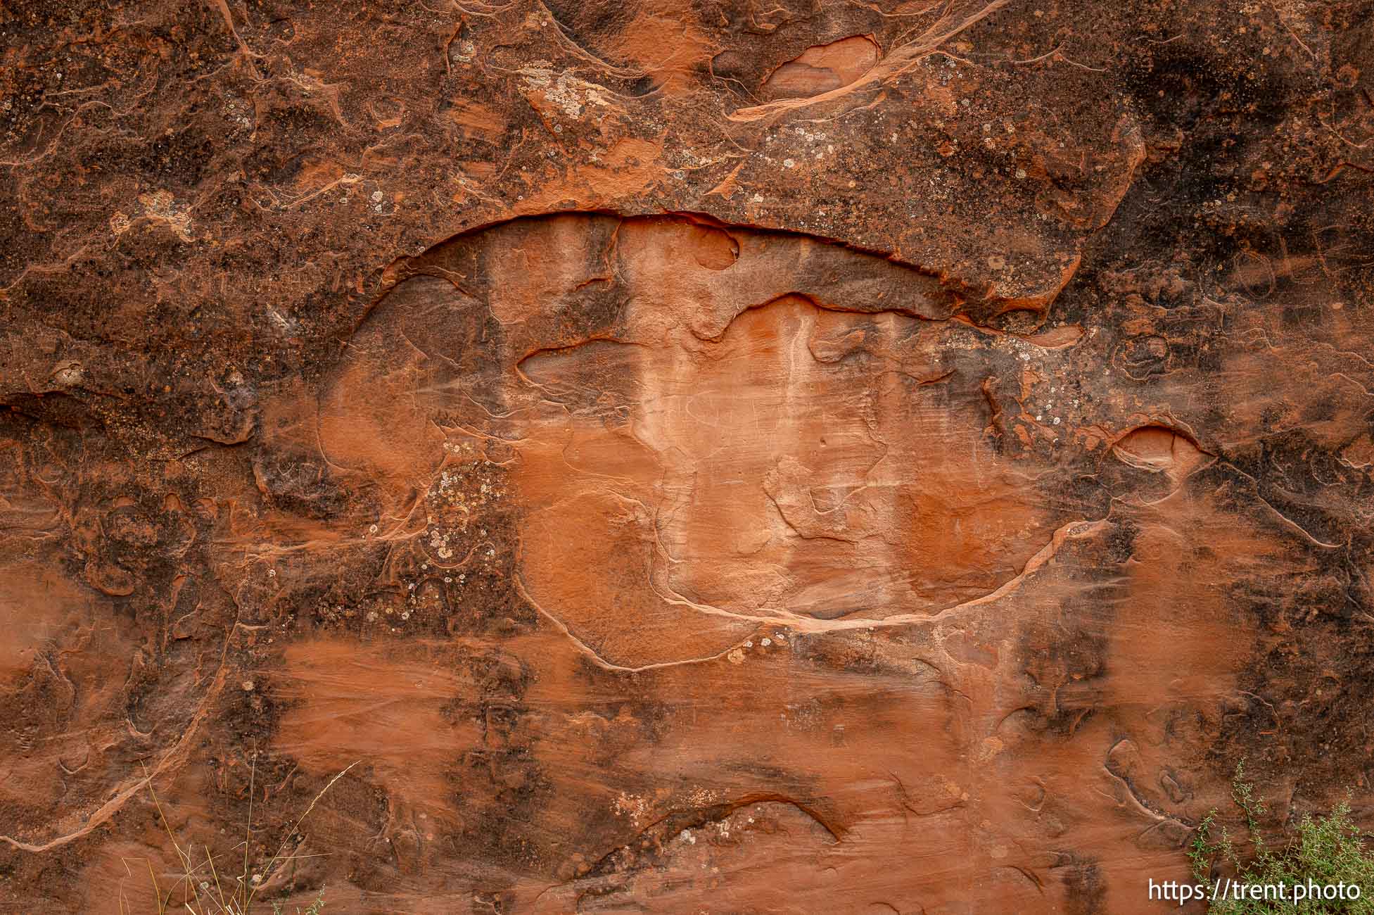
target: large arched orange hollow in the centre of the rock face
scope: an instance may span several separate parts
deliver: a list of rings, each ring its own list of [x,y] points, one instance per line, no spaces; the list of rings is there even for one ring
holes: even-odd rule
[[[515,574],[616,664],[719,651],[760,618],[936,613],[1013,580],[1062,522],[989,436],[984,381],[1009,357],[922,271],[592,214],[411,269],[323,397],[330,460],[400,518],[453,442],[510,442]]]

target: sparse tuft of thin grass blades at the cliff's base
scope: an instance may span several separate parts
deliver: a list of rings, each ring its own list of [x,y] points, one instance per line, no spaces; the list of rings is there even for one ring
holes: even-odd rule
[[[357,762],[349,764],[338,775],[328,780],[328,783],[320,789],[320,793],[315,795],[311,804],[305,808],[305,812],[295,817],[291,827],[286,831],[284,838],[278,845],[276,852],[261,866],[253,866],[250,861],[249,850],[251,848],[253,837],[253,786],[257,779],[257,764],[254,762],[253,769],[249,775],[249,815],[247,823],[245,824],[243,841],[235,845],[229,852],[224,852],[218,856],[210,855],[209,846],[202,846],[203,860],[195,853],[191,844],[184,848],[180,841],[177,841],[176,834],[172,831],[172,824],[168,823],[166,813],[162,809],[162,802],[158,800],[157,793],[153,790],[153,778],[144,769],[144,780],[148,786],[148,797],[153,798],[153,805],[157,808],[158,819],[162,823],[162,830],[168,834],[168,839],[172,842],[172,848],[176,852],[177,861],[181,866],[181,872],[176,875],[176,881],[172,882],[166,889],[158,881],[157,871],[153,867],[153,861],[143,859],[147,866],[148,878],[153,881],[153,893],[157,899],[157,915],[168,915],[180,911],[187,911],[191,915],[250,915],[253,912],[254,899],[267,878],[271,877],[279,867],[287,864],[289,861],[297,860],[300,857],[309,857],[298,855],[295,850],[287,853],[287,844],[293,835],[297,835],[297,830],[305,817],[311,815],[315,805],[326,791],[334,787],[344,775],[352,769]],[[304,844],[297,842],[295,848]],[[232,881],[228,875],[220,874],[220,867],[228,855],[234,853],[235,860],[239,846],[243,848],[243,861],[242,871]],[[220,861],[220,863],[217,863]],[[128,877],[133,875],[133,870],[129,868],[129,861],[124,861],[125,871]],[[273,915],[286,915],[286,910],[282,908],[280,903],[271,903]],[[260,905],[261,908],[261,905]],[[320,915],[324,911],[324,890],[322,889],[315,901],[305,910],[297,907],[295,915]],[[124,882],[120,883],[120,915],[132,915],[132,910],[124,893]]]

